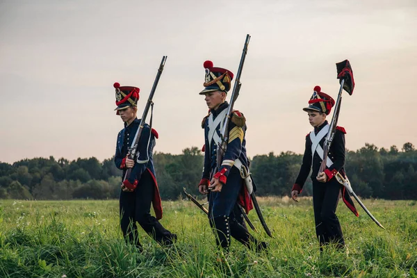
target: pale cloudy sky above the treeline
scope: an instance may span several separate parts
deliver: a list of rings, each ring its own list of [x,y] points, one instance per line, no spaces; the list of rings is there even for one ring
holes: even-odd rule
[[[113,83],[140,88],[140,117],[164,55],[154,151],[202,147],[203,63],[236,74],[247,33],[234,108],[250,157],[304,152],[302,108],[315,85],[336,99],[345,59],[356,83],[338,120],[347,149],[417,145],[416,26],[415,0],[0,0],[0,161],[111,158],[123,127]]]

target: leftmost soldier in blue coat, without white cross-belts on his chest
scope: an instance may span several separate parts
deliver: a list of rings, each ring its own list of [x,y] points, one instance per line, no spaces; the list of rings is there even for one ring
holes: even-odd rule
[[[136,222],[138,222],[140,227],[158,243],[171,245],[177,240],[177,235],[172,234],[158,222],[162,218],[162,206],[152,158],[155,138],[158,138],[158,133],[145,124],[138,144],[138,158],[133,161],[127,157],[128,147],[131,147],[135,140],[140,124],[140,120],[136,118],[139,88],[120,87],[119,83],[115,83],[114,87],[116,89],[116,114],[120,115],[124,122],[124,129],[117,135],[115,154],[115,165],[123,170],[122,192],[120,193],[120,225],[124,238],[142,250],[136,226]],[[131,174],[128,179],[123,180],[128,168],[132,168]],[[156,218],[150,214],[151,202]]]

